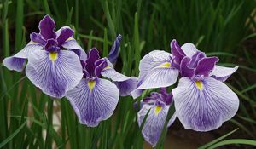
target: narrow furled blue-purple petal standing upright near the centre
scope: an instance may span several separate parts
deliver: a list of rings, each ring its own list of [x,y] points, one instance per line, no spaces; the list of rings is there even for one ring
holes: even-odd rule
[[[119,57],[119,44],[120,44],[121,40],[122,40],[121,35],[116,37],[116,39],[113,42],[113,45],[111,47],[111,50],[108,54],[108,60],[113,64],[116,62],[117,58]]]

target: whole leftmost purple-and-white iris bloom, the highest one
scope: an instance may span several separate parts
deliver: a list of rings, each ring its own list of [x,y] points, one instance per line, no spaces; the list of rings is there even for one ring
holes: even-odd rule
[[[21,72],[27,59],[26,76],[31,82],[45,94],[62,98],[83,77],[79,56],[86,57],[86,54],[73,38],[70,27],[54,31],[55,22],[49,15],[40,21],[39,30],[39,33],[32,32],[31,41],[24,49],[5,58],[3,65]]]

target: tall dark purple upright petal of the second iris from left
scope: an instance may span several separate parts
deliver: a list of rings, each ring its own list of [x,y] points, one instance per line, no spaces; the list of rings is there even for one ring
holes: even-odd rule
[[[90,76],[95,76],[95,62],[101,57],[99,51],[96,48],[90,49],[88,59],[86,60],[86,70],[89,72]]]

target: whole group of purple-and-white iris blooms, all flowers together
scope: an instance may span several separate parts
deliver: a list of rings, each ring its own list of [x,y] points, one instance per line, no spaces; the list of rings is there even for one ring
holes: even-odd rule
[[[143,99],[137,122],[143,125],[143,137],[152,146],[160,138],[170,106],[185,129],[218,129],[233,117],[239,106],[237,95],[223,83],[238,66],[218,66],[218,57],[207,57],[192,43],[171,43],[172,54],[154,50],[140,61],[139,77],[116,72],[113,64],[119,55],[121,36],[116,37],[108,58],[101,58],[96,48],[87,55],[73,38],[68,26],[55,32],[55,22],[46,15],[39,23],[39,33],[19,53],[3,60],[9,70],[21,72],[26,67],[28,79],[44,94],[61,99],[66,96],[79,122],[96,127],[113,114],[119,96],[137,98],[143,89],[158,89]],[[27,60],[27,64],[26,64]],[[167,93],[166,88],[177,82]],[[110,81],[111,80],[111,81]],[[146,117],[147,116],[147,117]]]

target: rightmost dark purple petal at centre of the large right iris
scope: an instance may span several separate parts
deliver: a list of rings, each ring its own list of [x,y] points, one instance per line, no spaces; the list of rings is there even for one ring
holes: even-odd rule
[[[212,72],[217,62],[218,62],[218,57],[206,57],[201,59],[198,62],[198,65],[196,66],[195,74],[200,76],[203,75],[207,77],[209,73]]]

